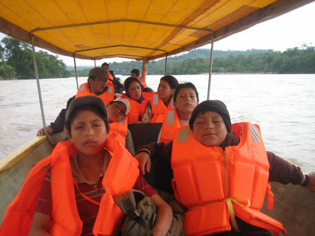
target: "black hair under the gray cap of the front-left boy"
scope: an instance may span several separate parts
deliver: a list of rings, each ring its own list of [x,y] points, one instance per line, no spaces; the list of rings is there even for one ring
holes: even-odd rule
[[[67,120],[65,121],[65,125],[64,126],[66,127],[70,138],[71,138],[71,123],[72,123],[72,120],[78,115],[78,113],[80,111],[91,111],[91,112],[94,112],[100,118],[102,118],[105,121],[106,132],[109,133],[108,118],[104,115],[102,110],[99,107],[94,106],[94,105],[82,105],[82,106],[79,106],[79,107],[75,108],[71,112],[71,114],[69,115]]]

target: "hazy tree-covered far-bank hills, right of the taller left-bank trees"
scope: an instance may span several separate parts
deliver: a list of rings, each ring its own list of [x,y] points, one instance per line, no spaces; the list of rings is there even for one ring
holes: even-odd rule
[[[284,52],[251,49],[247,51],[221,51],[213,53],[213,73],[275,73],[275,74],[314,74],[315,47],[302,45]],[[167,74],[196,75],[209,72],[210,49],[195,49],[181,55],[167,58]],[[81,69],[82,68],[82,69]],[[110,63],[117,75],[130,75],[133,68],[142,69],[142,61]],[[165,73],[165,58],[150,61],[148,75]],[[87,76],[88,67],[78,67],[78,76]],[[74,71],[69,71],[74,76]]]

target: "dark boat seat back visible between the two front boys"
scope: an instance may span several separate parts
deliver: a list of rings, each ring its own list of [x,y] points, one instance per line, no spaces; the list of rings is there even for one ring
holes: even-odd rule
[[[141,146],[151,144],[158,141],[158,134],[162,127],[162,123],[130,123],[128,129],[130,130],[134,150]],[[169,160],[168,160],[169,161]],[[165,159],[159,158],[151,163],[150,173],[146,173],[143,177],[154,188],[163,190],[173,194],[171,181],[173,179],[173,172],[170,164]]]

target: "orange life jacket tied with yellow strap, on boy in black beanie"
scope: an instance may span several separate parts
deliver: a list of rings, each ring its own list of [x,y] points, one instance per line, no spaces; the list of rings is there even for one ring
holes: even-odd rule
[[[186,235],[237,231],[234,213],[243,221],[276,232],[282,224],[261,213],[267,189],[269,162],[259,129],[246,122],[232,125],[237,146],[205,147],[189,126],[176,130],[171,165],[173,188],[185,213]],[[250,203],[250,206],[248,204]]]

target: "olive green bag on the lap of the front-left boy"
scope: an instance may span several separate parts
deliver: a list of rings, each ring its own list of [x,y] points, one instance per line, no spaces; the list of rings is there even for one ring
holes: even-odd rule
[[[184,236],[184,210],[173,195],[158,190],[158,195],[172,207],[173,220],[166,236]],[[151,198],[141,191],[129,189],[117,196],[115,203],[126,213],[122,227],[122,236],[151,236],[154,227],[157,208]]]

